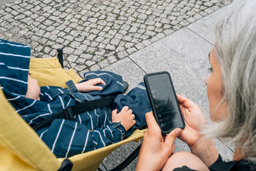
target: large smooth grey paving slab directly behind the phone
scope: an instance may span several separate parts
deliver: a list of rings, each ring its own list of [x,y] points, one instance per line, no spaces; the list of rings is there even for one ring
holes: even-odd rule
[[[147,73],[168,71],[176,92],[197,103],[210,121],[204,80],[209,75],[208,54],[211,48],[211,43],[183,28],[132,54],[130,58]],[[177,151],[189,151],[186,144],[180,141],[175,144]],[[218,139],[216,146],[225,160],[231,160],[233,152],[228,147]]]

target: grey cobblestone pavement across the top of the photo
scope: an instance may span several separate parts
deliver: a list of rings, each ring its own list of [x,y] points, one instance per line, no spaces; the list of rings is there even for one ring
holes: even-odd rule
[[[56,56],[65,68],[100,70],[232,0],[23,0],[0,4],[0,38],[31,46],[32,57]],[[67,61],[69,63],[67,63]]]

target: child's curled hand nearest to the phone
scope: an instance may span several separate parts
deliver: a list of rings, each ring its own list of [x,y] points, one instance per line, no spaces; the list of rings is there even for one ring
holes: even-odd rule
[[[135,115],[132,114],[132,110],[129,107],[123,107],[121,112],[117,114],[117,109],[112,111],[112,123],[121,122],[125,130],[129,130],[136,121],[134,120]]]

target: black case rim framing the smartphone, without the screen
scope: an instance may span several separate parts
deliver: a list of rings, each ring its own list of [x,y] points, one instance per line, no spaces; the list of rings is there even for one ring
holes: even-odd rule
[[[182,113],[181,113],[181,110],[180,110],[179,101],[178,101],[178,99],[177,99],[177,96],[176,96],[176,93],[175,93],[175,89],[174,89],[174,87],[173,87],[172,77],[171,77],[170,73],[168,73],[167,71],[161,71],[161,72],[157,72],[157,73],[148,73],[148,74],[144,75],[144,78],[143,78],[143,79],[144,79],[144,82],[145,82],[146,89],[147,89],[147,93],[148,93],[148,99],[149,99],[149,101],[150,101],[150,105],[151,105],[151,108],[152,108],[152,110],[153,110],[154,117],[156,118],[157,124],[158,124],[159,127],[161,128],[160,122],[159,122],[159,118],[158,118],[158,115],[157,115],[157,110],[156,110],[156,107],[155,107],[155,104],[154,104],[154,100],[153,100],[153,97],[152,97],[152,93],[151,93],[151,91],[150,91],[150,87],[149,87],[149,84],[148,84],[147,77],[150,76],[150,75],[161,75],[161,74],[163,74],[163,73],[167,73],[167,75],[168,75],[169,78],[170,78],[170,82],[171,82],[171,84],[172,84],[172,87],[170,87],[170,88],[172,88],[173,94],[175,95],[175,100],[176,100],[176,102],[177,102],[177,106],[178,106],[178,108],[179,108],[179,113],[180,113],[180,117],[181,117],[182,124],[183,124],[183,126],[182,126],[180,129],[183,130],[184,127],[185,127],[184,119],[183,119],[183,116],[182,116]],[[172,130],[174,130],[174,129],[175,129],[175,128],[172,128]],[[163,130],[161,130],[161,131],[162,131],[163,134],[166,134],[166,133],[170,133],[172,130],[169,130],[169,131],[163,131]]]

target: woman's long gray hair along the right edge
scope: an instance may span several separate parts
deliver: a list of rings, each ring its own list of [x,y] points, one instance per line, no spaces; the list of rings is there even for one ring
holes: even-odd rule
[[[256,1],[236,0],[216,26],[216,57],[221,66],[228,116],[211,124],[213,137],[231,137],[256,161]],[[221,103],[221,102],[220,102]]]

